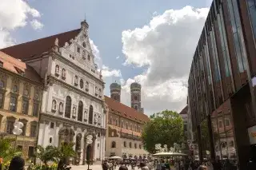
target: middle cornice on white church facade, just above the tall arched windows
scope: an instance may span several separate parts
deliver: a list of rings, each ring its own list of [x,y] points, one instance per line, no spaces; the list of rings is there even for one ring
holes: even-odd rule
[[[104,103],[103,99],[101,100],[98,97],[94,97],[90,93],[86,93],[86,92],[82,91],[81,89],[78,89],[78,88],[74,87],[73,85],[69,85],[69,84],[67,84],[64,81],[58,80],[58,78],[56,78],[54,76],[47,76],[47,80],[49,81],[50,85],[53,85],[53,83],[57,84],[57,85],[62,85],[66,89],[70,89],[70,90],[72,90],[75,93],[82,94],[85,97],[89,97],[90,100],[99,101],[102,105]]]

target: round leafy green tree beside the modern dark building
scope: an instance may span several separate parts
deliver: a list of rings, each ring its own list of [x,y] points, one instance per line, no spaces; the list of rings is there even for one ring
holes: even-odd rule
[[[142,131],[144,148],[150,153],[155,152],[155,144],[180,144],[184,139],[183,121],[178,113],[170,110],[154,113]]]

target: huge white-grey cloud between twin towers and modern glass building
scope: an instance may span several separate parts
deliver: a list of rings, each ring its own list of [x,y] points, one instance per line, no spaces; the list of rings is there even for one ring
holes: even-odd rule
[[[147,26],[122,32],[124,65],[147,67],[145,73],[121,81],[122,101],[130,105],[130,83],[137,81],[146,112],[185,107],[190,63],[208,10],[186,6],[154,13]]]

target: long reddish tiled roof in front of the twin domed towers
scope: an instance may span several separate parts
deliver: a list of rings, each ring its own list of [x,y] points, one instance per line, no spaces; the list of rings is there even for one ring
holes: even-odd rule
[[[146,121],[150,121],[150,118],[147,117],[146,114],[139,113],[135,109],[130,108],[127,105],[123,105],[122,103],[115,101],[110,97],[105,96],[105,103],[110,111],[118,113],[122,117],[127,117],[128,119],[132,119],[134,121],[140,121],[142,124]]]

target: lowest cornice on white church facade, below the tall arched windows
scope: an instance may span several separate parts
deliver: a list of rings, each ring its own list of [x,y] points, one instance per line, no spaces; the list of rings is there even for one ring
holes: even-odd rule
[[[94,130],[98,130],[98,131],[101,131],[101,132],[106,132],[106,128],[100,128],[100,127],[97,127],[97,126],[94,126],[94,125],[88,125],[88,124],[84,124],[82,122],[79,122],[79,121],[74,121],[74,120],[71,120],[71,119],[66,119],[66,118],[63,118],[63,117],[56,117],[50,113],[40,113],[41,114],[41,117],[40,117],[40,121],[43,121],[44,119],[46,119],[47,121],[49,120],[53,120],[53,121],[58,121],[59,122],[62,122],[63,125],[74,125],[74,127],[78,128],[90,128],[90,129],[94,129]]]

